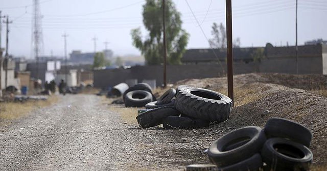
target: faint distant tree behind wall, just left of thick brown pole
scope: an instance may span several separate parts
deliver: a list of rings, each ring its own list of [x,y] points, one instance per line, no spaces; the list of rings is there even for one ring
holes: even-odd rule
[[[218,49],[226,48],[226,29],[223,23],[218,25],[216,22],[214,22],[211,35],[214,37],[209,39],[210,46]]]

